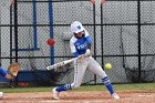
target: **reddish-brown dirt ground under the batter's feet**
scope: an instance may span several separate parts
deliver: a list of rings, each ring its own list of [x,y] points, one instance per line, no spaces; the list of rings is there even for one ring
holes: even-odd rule
[[[155,103],[155,90],[116,91],[120,100],[107,91],[61,92],[61,100],[52,100],[52,92],[6,93],[0,103]]]

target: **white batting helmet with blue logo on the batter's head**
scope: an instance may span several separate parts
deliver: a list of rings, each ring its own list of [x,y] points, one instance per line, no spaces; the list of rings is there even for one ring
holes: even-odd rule
[[[82,25],[81,22],[74,21],[74,22],[71,24],[71,31],[72,31],[72,33],[79,33],[79,32],[84,31],[84,27]]]

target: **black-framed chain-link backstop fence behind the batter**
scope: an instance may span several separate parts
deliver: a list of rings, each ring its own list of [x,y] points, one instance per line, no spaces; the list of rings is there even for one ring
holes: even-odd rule
[[[92,2],[91,2],[92,1]],[[72,58],[70,24],[80,21],[93,38],[93,58],[112,83],[155,81],[155,1],[153,0],[2,0],[0,65],[19,62],[13,80],[35,85],[73,81],[73,65],[61,72],[46,66]],[[46,40],[53,38],[54,47]],[[112,70],[104,64],[111,63]],[[86,71],[83,84],[101,83]]]

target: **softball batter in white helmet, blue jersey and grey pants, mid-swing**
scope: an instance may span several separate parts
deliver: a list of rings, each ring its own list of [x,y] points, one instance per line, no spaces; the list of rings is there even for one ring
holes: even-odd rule
[[[71,52],[75,58],[81,55],[82,56],[79,60],[74,61],[74,82],[54,87],[53,99],[59,100],[59,93],[62,91],[79,87],[82,83],[82,79],[86,70],[91,71],[92,73],[99,75],[102,79],[102,82],[110,91],[112,97],[116,100],[120,99],[120,96],[114,92],[106,73],[103,71],[101,65],[92,56],[90,56],[92,39],[89,32],[79,21],[74,21],[71,24],[71,31],[74,34],[70,40]]]

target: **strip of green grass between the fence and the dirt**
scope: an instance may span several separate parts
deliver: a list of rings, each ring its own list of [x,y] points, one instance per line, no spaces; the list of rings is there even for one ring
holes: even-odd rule
[[[155,90],[155,83],[134,83],[134,84],[113,84],[115,90]],[[14,92],[49,92],[51,87],[13,87],[13,89],[1,89],[6,93]],[[73,91],[105,91],[104,85],[82,85]]]

